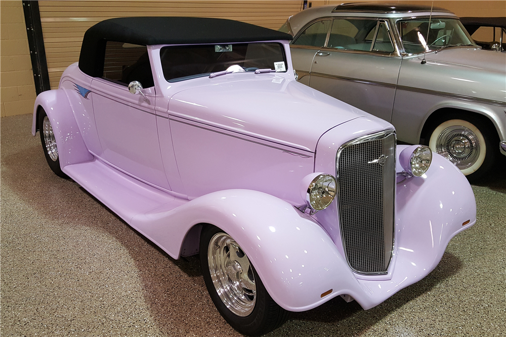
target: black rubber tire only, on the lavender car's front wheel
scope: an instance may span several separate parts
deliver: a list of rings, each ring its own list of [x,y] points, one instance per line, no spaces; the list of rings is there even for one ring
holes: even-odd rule
[[[200,266],[202,269],[202,275],[204,277],[207,291],[209,292],[209,295],[213,300],[216,308],[220,312],[220,314],[234,329],[236,329],[240,333],[249,336],[259,336],[268,333],[274,330],[275,328],[281,326],[281,324],[283,324],[288,318],[289,312],[281,308],[269,296],[264,287],[264,284],[260,280],[260,277],[258,276],[257,271],[255,270],[252,264],[249,265],[250,269],[248,269],[247,274],[249,275],[249,278],[255,283],[256,295],[254,297],[255,298],[254,304],[249,309],[250,311],[247,312],[247,316],[241,317],[232,311],[236,309],[231,310],[229,309],[229,307],[227,307],[227,305],[225,305],[220,295],[218,295],[217,288],[213,283],[213,279],[211,277],[210,269],[212,269],[212,267],[210,266],[208,258],[208,251],[209,251],[208,248],[209,245],[212,245],[216,249],[216,251],[221,250],[225,252],[228,250],[228,248],[226,248],[228,246],[225,245],[223,245],[222,247],[216,246],[215,243],[218,243],[217,240],[213,240],[212,243],[212,239],[215,238],[215,235],[217,235],[216,237],[218,238],[223,239],[227,239],[227,237],[230,238],[232,241],[228,240],[227,242],[229,244],[232,242],[233,244],[237,245],[237,243],[235,243],[235,241],[227,233],[225,233],[223,230],[221,230],[216,226],[206,225],[204,226],[204,228],[202,228],[202,232],[200,234]],[[223,240],[221,242],[223,242]],[[246,260],[249,262],[247,256],[242,252],[242,250],[238,245],[237,248],[238,248],[237,255],[240,256],[242,254],[242,257],[246,257]],[[231,256],[230,252],[226,254],[228,254],[228,256]],[[232,261],[232,259],[230,259],[229,261]],[[225,274],[227,275],[226,277],[228,278],[229,282],[233,282],[230,276],[228,276],[229,273],[226,270],[224,269],[220,270],[223,270],[223,275]],[[216,278],[217,277],[216,273],[214,275],[215,275],[214,277]],[[239,275],[239,273],[237,275]],[[245,288],[243,287],[242,289],[244,290]],[[227,295],[225,294],[222,296]],[[252,297],[248,296],[248,299],[251,300]]]

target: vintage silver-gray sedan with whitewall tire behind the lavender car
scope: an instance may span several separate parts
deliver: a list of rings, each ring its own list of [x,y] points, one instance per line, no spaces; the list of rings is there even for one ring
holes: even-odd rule
[[[506,55],[481,50],[457,16],[413,5],[321,6],[290,17],[299,81],[381,117],[468,178],[506,155]]]

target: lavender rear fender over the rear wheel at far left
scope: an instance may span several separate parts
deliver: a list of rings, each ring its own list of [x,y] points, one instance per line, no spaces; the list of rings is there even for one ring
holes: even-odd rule
[[[43,108],[51,121],[58,147],[60,166],[93,160],[86,148],[64,90],[55,89],[41,92],[33,107],[32,135],[35,136],[39,108]]]

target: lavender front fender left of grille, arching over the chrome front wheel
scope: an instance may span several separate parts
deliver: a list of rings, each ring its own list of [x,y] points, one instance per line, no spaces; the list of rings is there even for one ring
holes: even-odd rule
[[[340,294],[358,297],[362,292],[326,231],[289,203],[263,192],[213,192],[174,210],[132,219],[134,228],[174,258],[179,258],[185,235],[199,223],[231,235],[268,293],[286,310],[309,310]],[[331,294],[322,297],[329,290]]]

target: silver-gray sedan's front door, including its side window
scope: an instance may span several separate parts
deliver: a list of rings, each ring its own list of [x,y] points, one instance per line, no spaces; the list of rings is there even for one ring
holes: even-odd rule
[[[309,85],[390,121],[401,57],[387,21],[334,18],[316,53]]]

